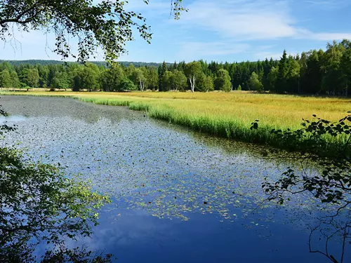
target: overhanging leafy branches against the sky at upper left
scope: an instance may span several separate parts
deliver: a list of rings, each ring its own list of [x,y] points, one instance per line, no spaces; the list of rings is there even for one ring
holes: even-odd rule
[[[144,1],[148,4],[148,0]],[[146,19],[133,11],[126,11],[124,1],[91,0],[32,1],[4,0],[0,4],[0,38],[13,41],[12,25],[25,32],[43,30],[55,34],[55,53],[68,58],[72,55],[86,61],[102,48],[105,60],[116,60],[125,53],[127,41],[133,40],[133,27],[150,43],[152,34]],[[172,0],[173,15],[179,18],[184,10],[181,0]],[[141,23],[141,24],[140,24]],[[77,53],[72,52],[69,39],[78,40]]]

